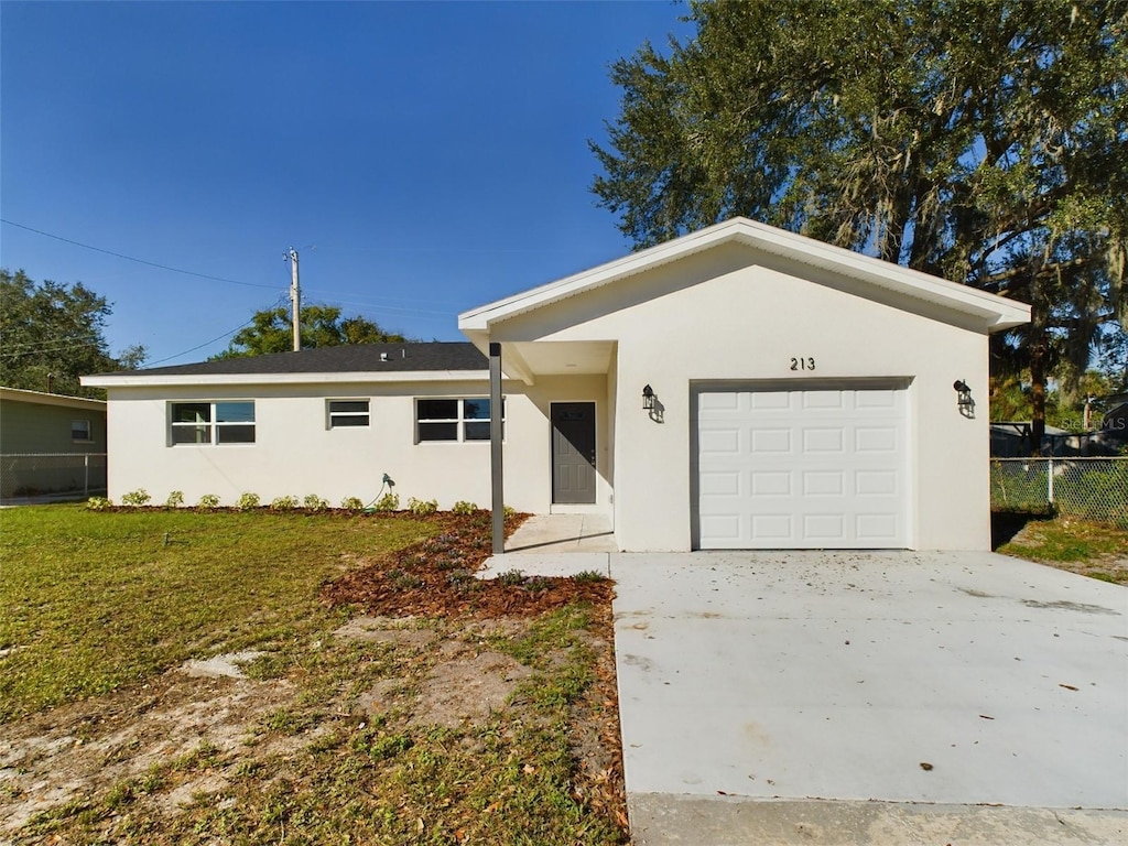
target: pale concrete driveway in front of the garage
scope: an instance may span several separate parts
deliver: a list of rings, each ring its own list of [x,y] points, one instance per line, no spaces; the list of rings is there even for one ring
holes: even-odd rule
[[[610,571],[635,843],[1128,843],[1128,589],[989,553]]]

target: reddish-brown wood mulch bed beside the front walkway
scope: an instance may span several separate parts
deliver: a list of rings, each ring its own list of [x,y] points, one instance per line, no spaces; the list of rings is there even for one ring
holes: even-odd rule
[[[506,517],[505,536],[527,518]],[[487,511],[402,519],[434,520],[442,531],[326,583],[325,601],[393,617],[530,617],[576,600],[610,607],[614,588],[606,579],[544,579],[515,572],[491,581],[475,579],[492,549]]]

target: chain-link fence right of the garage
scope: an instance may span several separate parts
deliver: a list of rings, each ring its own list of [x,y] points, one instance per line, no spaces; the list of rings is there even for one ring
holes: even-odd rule
[[[1057,513],[1128,528],[1128,457],[994,458],[995,511]]]

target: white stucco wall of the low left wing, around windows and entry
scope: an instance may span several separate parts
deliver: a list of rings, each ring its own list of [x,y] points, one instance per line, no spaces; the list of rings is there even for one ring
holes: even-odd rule
[[[557,377],[527,388],[505,380],[505,503],[547,513],[552,499],[552,402],[597,403],[599,501],[610,500],[605,473],[610,448],[607,379]],[[400,508],[408,497],[459,500],[490,506],[490,442],[415,442],[418,397],[485,397],[488,380],[395,384],[223,385],[109,388],[109,496],[138,488],[162,502],[183,491],[185,504],[217,494],[226,505],[244,492],[263,504],[307,494],[337,505],[345,496],[374,499],[387,473]],[[328,399],[369,398],[368,428],[328,429]],[[169,405],[175,402],[255,400],[255,442],[169,446]]]

